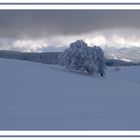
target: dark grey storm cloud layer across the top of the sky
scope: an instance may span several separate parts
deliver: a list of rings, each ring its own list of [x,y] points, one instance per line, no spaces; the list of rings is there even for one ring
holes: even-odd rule
[[[140,28],[133,10],[0,10],[0,37],[79,35],[111,28]]]

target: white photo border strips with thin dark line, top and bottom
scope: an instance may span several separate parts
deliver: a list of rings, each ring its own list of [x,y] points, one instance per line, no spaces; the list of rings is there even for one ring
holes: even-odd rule
[[[0,10],[140,10],[139,0],[1,0]],[[70,3],[72,2],[72,3]],[[104,4],[103,4],[104,2]],[[117,2],[117,3],[116,3]],[[69,3],[69,4],[67,4]],[[74,4],[75,3],[75,4]],[[85,3],[85,4],[84,4]],[[115,4],[114,4],[115,3]],[[0,130],[1,137],[139,137],[140,130],[134,131],[4,131]]]

